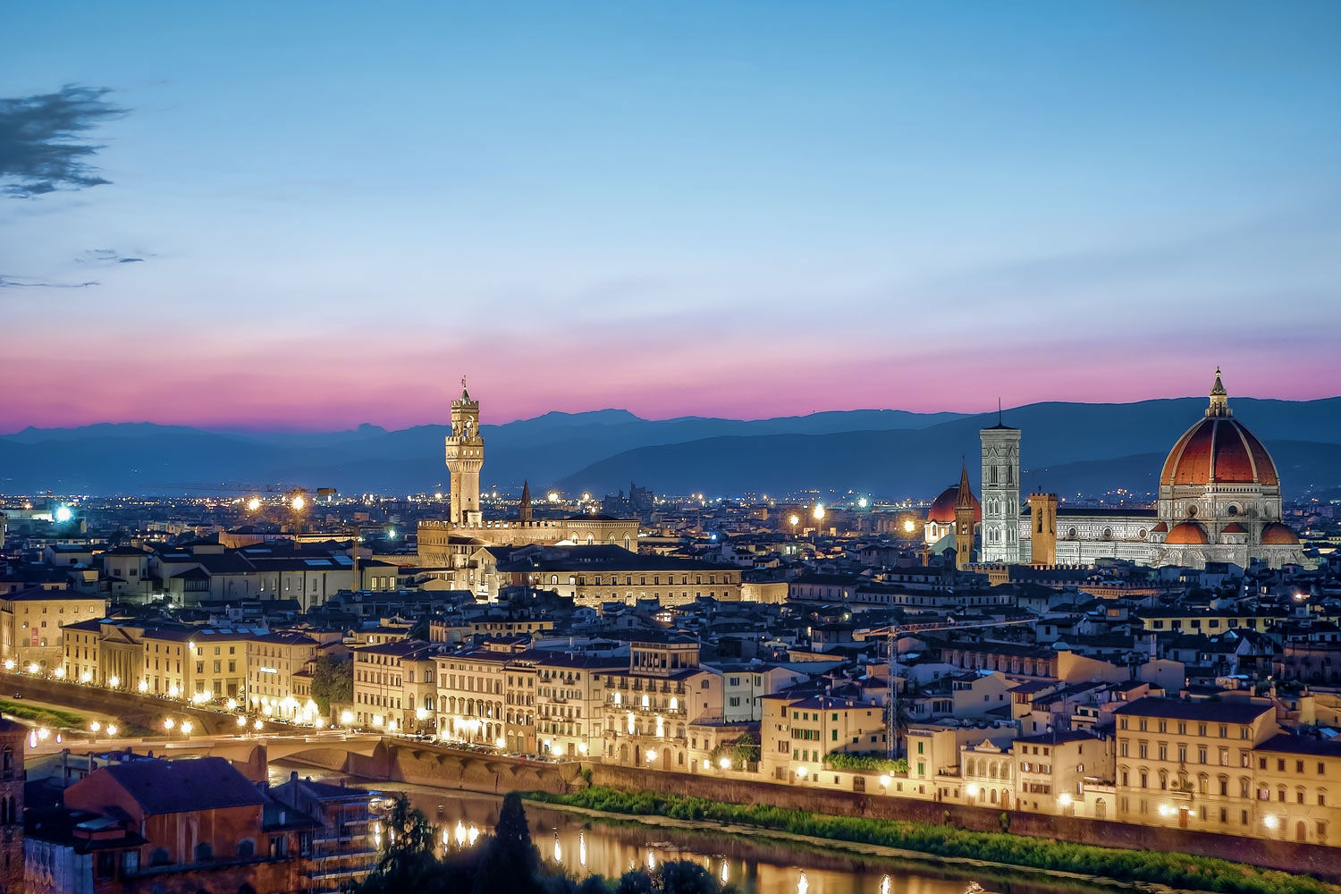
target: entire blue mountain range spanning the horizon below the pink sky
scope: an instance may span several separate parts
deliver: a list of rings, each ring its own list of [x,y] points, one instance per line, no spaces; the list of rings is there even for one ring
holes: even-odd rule
[[[1341,398],[1236,398],[1271,450],[1287,496],[1341,484]],[[1063,496],[1153,491],[1160,464],[1206,398],[1033,403],[1022,429],[1026,489]],[[996,413],[850,410],[771,420],[644,420],[626,410],[547,413],[481,426],[481,485],[607,493],[630,481],[658,493],[817,489],[925,499],[978,478],[978,430]],[[154,424],[24,429],[0,436],[0,493],[245,493],[334,487],[342,493],[445,489],[445,425],[346,432],[228,432]]]

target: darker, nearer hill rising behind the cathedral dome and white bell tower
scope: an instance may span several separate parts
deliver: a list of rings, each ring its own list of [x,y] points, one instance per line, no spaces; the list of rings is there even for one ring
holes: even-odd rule
[[[1341,444],[1341,398],[1232,402],[1236,416],[1271,448],[1278,442]],[[1168,449],[1202,417],[1206,398],[1139,403],[1033,403],[1006,414],[1022,430],[1025,469],[1065,493],[1100,493],[1116,487],[1149,489]],[[978,480],[978,430],[996,414],[952,420],[920,430],[843,432],[826,436],[723,437],[645,446],[594,462],[559,487],[602,492],[637,480],[658,492],[713,495],[780,492],[810,487],[849,488],[888,496],[932,497],[955,484],[960,458]],[[1281,446],[1287,491],[1341,480],[1341,466],[1324,449]],[[1151,460],[1151,469],[1140,462]],[[1075,468],[1071,468],[1071,466]],[[1043,469],[1051,473],[1043,474]],[[1144,477],[1143,477],[1144,476]],[[1053,483],[1053,478],[1065,481]],[[1029,480],[1026,480],[1026,487]]]

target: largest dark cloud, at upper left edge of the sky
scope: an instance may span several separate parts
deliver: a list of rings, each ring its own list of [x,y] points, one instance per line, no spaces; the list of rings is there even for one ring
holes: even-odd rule
[[[67,84],[54,94],[0,98],[0,193],[31,198],[110,182],[89,159],[102,146],[84,131],[126,114],[106,87]]]

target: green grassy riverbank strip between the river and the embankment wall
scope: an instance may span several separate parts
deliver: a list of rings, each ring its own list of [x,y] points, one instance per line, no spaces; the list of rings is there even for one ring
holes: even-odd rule
[[[1033,870],[1093,885],[1147,891],[1173,887],[1228,894],[1341,894],[1341,887],[1311,877],[1261,870],[1219,858],[1070,844],[904,820],[830,816],[767,804],[734,804],[649,792],[632,795],[601,787],[574,795],[532,792],[527,799],[551,807],[591,811],[594,816],[634,818],[652,826],[683,824],[677,827],[764,835],[774,840],[839,847],[894,859]]]

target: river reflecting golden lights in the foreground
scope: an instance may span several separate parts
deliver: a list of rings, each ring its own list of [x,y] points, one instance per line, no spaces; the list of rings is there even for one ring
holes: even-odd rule
[[[314,779],[339,779],[339,773],[310,767],[271,764],[274,784],[291,771]],[[502,797],[449,789],[349,780],[382,792],[405,792],[429,822],[469,840],[471,830],[484,834],[498,822]],[[990,875],[937,863],[865,858],[842,851],[768,844],[760,839],[720,835],[712,831],[661,828],[636,822],[591,819],[561,810],[527,804],[531,839],[540,856],[575,878],[595,873],[618,878],[634,867],[654,867],[668,859],[703,865],[742,894],[964,894],[971,882],[1002,894],[1089,894],[1110,891],[1080,883],[1045,882],[1039,875]],[[455,846],[455,844],[453,844]]]

